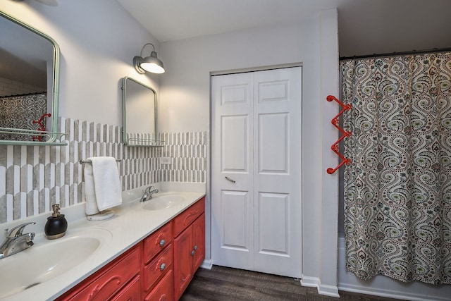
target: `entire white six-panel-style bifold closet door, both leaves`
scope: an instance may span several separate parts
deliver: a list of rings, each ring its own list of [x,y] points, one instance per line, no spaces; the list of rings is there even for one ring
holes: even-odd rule
[[[213,264],[301,276],[301,76],[211,80]]]

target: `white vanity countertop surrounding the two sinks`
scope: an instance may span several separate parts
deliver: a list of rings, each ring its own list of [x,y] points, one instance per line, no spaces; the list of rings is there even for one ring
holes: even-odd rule
[[[142,195],[142,188],[130,192],[123,192],[123,204],[119,207],[115,207],[113,209],[113,211],[115,211],[115,216],[106,221],[87,221],[85,216],[85,203],[62,208],[61,214],[65,214],[66,219],[68,220],[66,236],[70,235],[70,233],[76,233],[77,231],[83,231],[86,228],[92,227],[109,231],[109,233],[111,233],[111,240],[106,242],[104,246],[99,247],[93,254],[89,255],[85,261],[78,264],[78,266],[73,267],[49,281],[45,281],[1,300],[54,300],[88,276],[94,274],[95,271],[101,269],[101,267],[111,262],[120,254],[130,249],[130,247],[137,242],[140,242],[143,238],[147,237],[147,235],[159,229],[165,223],[173,219],[174,216],[180,214],[180,212],[187,209],[187,207],[190,207],[190,205],[194,204],[194,202],[197,202],[197,200],[205,195],[204,183],[156,183],[154,186],[159,188],[160,192],[177,192],[178,195],[183,196],[183,200],[173,204],[167,209],[149,211],[136,209],[135,207],[137,206],[131,206],[131,204],[137,202],[136,195]],[[155,195],[155,197],[156,196],[157,195]],[[147,202],[152,202],[152,199]],[[50,215],[51,214],[47,212],[46,214],[39,214],[39,216],[21,219],[14,223],[2,224],[0,225],[0,231],[4,228],[16,226],[16,224],[19,223],[36,221],[36,225],[27,226],[24,232],[33,231],[36,233],[34,240],[35,245],[49,243],[52,240],[47,240],[44,237],[44,225],[47,221],[47,217]],[[60,238],[60,240],[63,240],[63,238]],[[29,252],[30,255],[32,255],[32,248],[33,247],[30,247],[23,252]],[[49,254],[49,256],[52,256],[52,254]],[[27,273],[27,266],[18,266],[17,269],[23,269],[23,273]],[[7,276],[8,271],[0,271],[0,275]],[[2,276],[0,276],[0,281],[1,277]]]

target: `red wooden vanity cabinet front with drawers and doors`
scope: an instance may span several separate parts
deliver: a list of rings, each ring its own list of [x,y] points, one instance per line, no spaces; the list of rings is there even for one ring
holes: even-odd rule
[[[57,301],[178,300],[205,258],[205,198]]]

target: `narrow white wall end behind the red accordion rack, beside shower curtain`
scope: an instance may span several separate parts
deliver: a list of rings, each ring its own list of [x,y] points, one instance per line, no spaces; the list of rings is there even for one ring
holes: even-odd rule
[[[324,295],[338,296],[338,276],[331,266],[338,266],[338,171],[333,174],[327,168],[338,165],[338,156],[332,152],[332,145],[338,137],[338,130],[330,120],[340,111],[336,102],[327,102],[328,95],[338,94],[338,12],[336,9],[321,11],[321,266],[319,290]],[[335,256],[333,256],[335,254]],[[335,270],[336,271],[336,270]]]

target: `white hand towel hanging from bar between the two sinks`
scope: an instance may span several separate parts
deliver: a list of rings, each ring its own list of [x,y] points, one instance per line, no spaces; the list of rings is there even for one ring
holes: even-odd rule
[[[94,194],[99,211],[122,204],[121,181],[116,159],[111,156],[96,156],[87,159],[92,162]],[[85,173],[86,167],[88,167],[89,173],[89,166],[85,166]],[[89,185],[87,186],[89,188]]]

